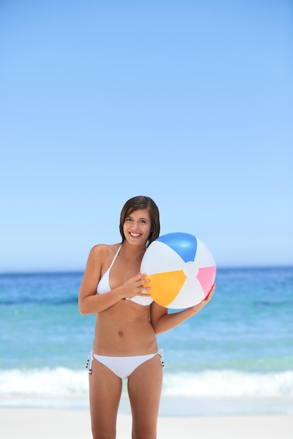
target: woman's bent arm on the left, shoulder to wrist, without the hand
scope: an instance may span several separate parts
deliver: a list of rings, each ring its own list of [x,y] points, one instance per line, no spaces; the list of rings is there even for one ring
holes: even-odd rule
[[[105,246],[95,245],[89,253],[84,277],[79,289],[78,305],[82,316],[104,311],[125,297],[123,285],[102,295],[96,295],[103,260],[105,260]]]

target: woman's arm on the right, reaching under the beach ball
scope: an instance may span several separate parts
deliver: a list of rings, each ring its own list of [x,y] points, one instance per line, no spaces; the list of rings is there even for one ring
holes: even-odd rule
[[[183,309],[178,313],[168,313],[168,309],[164,306],[160,306],[155,302],[152,302],[150,306],[150,323],[155,330],[155,334],[161,334],[162,332],[169,331],[174,327],[188,320],[188,318],[197,314],[206,304],[209,303],[211,297],[214,295],[216,284],[212,286],[209,294],[199,304],[191,306],[191,308]]]

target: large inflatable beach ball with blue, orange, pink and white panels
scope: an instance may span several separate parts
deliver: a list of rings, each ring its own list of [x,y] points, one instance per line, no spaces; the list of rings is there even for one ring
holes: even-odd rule
[[[176,232],[150,243],[141,273],[150,280],[150,295],[157,304],[184,309],[207,297],[216,278],[216,263],[200,239]]]

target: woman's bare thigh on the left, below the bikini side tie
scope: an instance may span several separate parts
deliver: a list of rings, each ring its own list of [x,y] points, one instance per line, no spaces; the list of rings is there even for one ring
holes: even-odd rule
[[[93,439],[115,438],[122,379],[108,367],[93,360],[89,375],[89,403]]]

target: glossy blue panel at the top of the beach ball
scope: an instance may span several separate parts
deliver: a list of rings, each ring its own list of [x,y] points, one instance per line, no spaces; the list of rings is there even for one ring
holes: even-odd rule
[[[185,262],[195,260],[197,239],[193,235],[176,232],[159,236],[156,241],[169,245]]]

